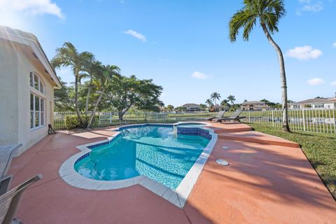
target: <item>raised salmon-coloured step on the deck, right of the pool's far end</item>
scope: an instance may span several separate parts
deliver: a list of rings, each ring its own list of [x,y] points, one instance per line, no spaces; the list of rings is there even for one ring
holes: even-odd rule
[[[218,133],[218,139],[228,139],[228,140],[234,140],[234,141],[246,141],[246,142],[251,142],[251,143],[267,144],[267,145],[274,145],[274,146],[287,146],[287,147],[293,147],[293,148],[300,148],[300,145],[293,141],[288,141],[286,139],[274,137],[269,134],[264,134],[261,132],[253,132],[253,131]]]

